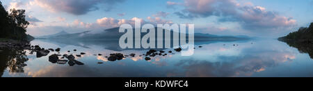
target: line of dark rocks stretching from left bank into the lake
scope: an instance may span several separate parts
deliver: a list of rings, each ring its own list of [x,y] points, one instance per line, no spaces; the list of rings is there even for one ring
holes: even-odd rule
[[[40,57],[46,57],[51,52],[56,52],[54,54],[49,55],[49,59],[47,59],[51,63],[58,63],[58,64],[68,64],[70,66],[74,65],[84,65],[81,61],[77,61],[76,57],[82,57],[82,55],[86,54],[84,52],[81,52],[79,54],[61,54],[61,48],[41,48],[39,45],[31,45],[27,41],[14,41],[14,40],[8,40],[8,41],[2,41],[0,42],[0,49],[9,49],[9,50],[29,50],[29,54],[35,54],[37,58]],[[199,46],[199,48],[202,48],[202,46]],[[71,51],[77,52],[77,49],[73,50],[67,50],[68,53]],[[152,60],[152,57],[157,57],[157,56],[168,56],[168,54],[175,54],[174,52],[181,52],[182,48],[176,48],[173,50],[170,50],[168,52],[165,52],[163,50],[149,50],[145,54],[122,54],[122,53],[113,53],[110,54],[109,56],[105,56],[108,61],[120,61],[122,59],[126,59],[127,57],[135,57],[138,55],[139,57],[144,57],[146,61]],[[75,56],[74,56],[75,55]],[[94,54],[95,56],[103,56],[102,54]],[[102,64],[102,62],[98,62],[98,64]]]

